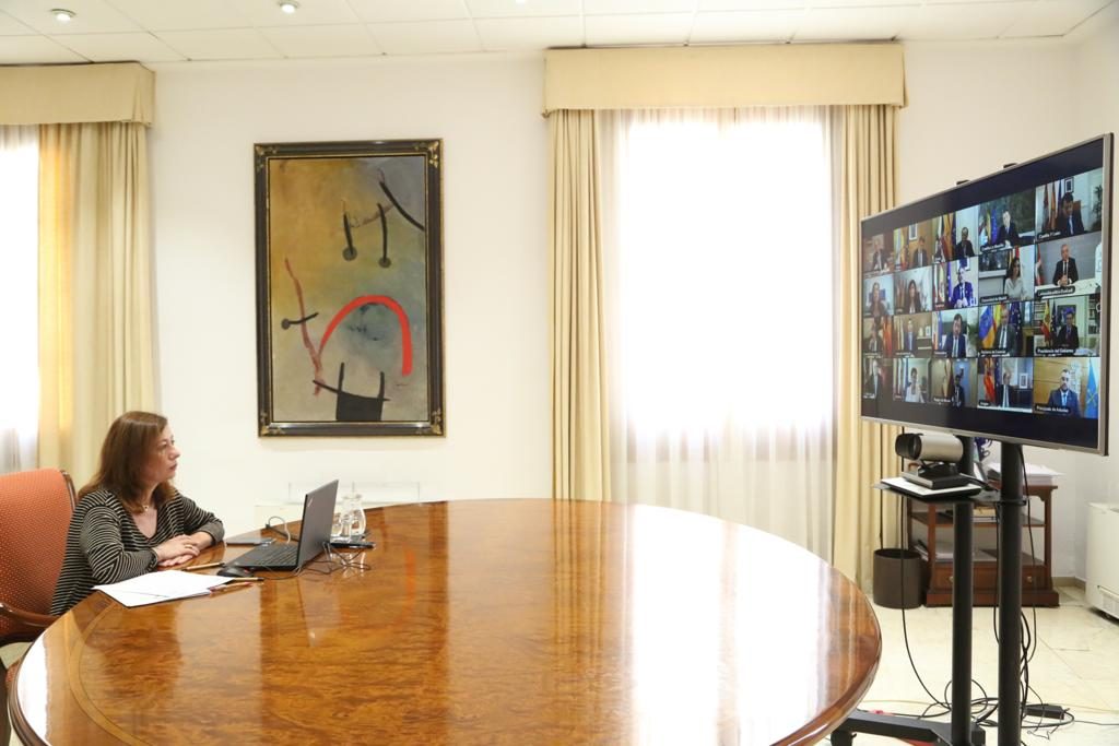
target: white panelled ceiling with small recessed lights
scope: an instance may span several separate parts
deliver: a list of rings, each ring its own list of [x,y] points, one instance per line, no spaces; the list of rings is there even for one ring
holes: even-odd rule
[[[1119,0],[0,0],[0,64],[1059,38]],[[75,13],[55,20],[53,8]]]

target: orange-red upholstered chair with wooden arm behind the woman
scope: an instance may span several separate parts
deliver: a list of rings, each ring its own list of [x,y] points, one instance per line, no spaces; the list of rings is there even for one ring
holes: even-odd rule
[[[74,483],[58,469],[0,474],[0,648],[29,642],[51,622],[74,513]],[[8,691],[19,663],[0,661],[0,744],[11,738]]]

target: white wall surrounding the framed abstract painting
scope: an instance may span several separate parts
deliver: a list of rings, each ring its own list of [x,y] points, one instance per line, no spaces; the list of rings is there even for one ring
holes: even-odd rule
[[[151,132],[161,406],[232,530],[289,483],[549,492],[539,56],[164,65]],[[253,143],[442,138],[444,437],[256,435]]]

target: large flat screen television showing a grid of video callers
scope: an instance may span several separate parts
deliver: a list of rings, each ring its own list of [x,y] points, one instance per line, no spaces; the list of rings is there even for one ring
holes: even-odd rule
[[[863,417],[1107,453],[1111,149],[863,220]]]

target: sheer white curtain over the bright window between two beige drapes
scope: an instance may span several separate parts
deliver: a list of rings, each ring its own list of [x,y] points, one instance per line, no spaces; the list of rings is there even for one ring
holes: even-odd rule
[[[602,117],[614,499],[830,556],[826,107]]]

